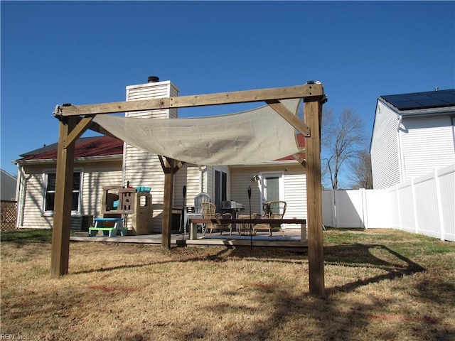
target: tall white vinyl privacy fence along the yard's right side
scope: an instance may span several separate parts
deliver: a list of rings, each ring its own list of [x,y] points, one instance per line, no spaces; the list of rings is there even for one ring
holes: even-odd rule
[[[323,224],[402,229],[455,242],[455,165],[384,190],[324,190]]]

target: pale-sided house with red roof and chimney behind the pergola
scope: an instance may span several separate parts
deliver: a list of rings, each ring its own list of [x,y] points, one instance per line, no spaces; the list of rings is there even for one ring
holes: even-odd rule
[[[149,82],[127,87],[127,100],[174,97],[178,89],[169,81]],[[177,118],[176,109],[153,112],[127,112],[127,117]],[[57,135],[58,132],[56,131]],[[297,136],[304,146],[304,137]],[[50,228],[53,225],[53,191],[57,144],[21,155],[19,169],[18,227]],[[304,158],[304,155],[301,155]],[[82,138],[75,147],[72,228],[85,228],[100,215],[102,188],[127,185],[151,188],[152,231],[161,232],[164,201],[164,173],[156,154],[141,151],[109,136]],[[174,178],[173,207],[193,206],[194,197],[208,193],[220,209],[221,202],[242,203],[250,212],[248,187],[251,186],[251,212],[262,213],[267,200],[287,201],[286,218],[306,219],[305,169],[293,157],[257,165],[204,166],[186,163]],[[131,220],[127,220],[130,225]]]

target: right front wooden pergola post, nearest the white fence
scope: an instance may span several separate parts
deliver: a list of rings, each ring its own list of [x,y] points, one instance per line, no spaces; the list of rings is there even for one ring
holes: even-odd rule
[[[305,140],[306,211],[308,216],[309,291],[324,294],[324,255],[322,235],[321,185],[321,101],[304,100],[304,118],[311,137]]]

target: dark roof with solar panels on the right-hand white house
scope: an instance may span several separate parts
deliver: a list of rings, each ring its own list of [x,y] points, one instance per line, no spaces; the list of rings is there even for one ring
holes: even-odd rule
[[[389,94],[380,99],[400,111],[455,107],[455,89]]]

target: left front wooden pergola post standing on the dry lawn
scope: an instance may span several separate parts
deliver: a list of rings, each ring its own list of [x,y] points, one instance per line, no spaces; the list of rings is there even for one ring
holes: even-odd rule
[[[68,117],[60,121],[50,256],[51,276],[68,274],[75,141],[68,144],[66,148],[64,146],[67,144],[68,136],[75,128],[78,119],[79,117]]]

